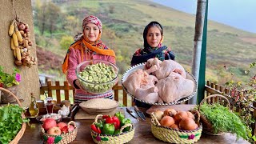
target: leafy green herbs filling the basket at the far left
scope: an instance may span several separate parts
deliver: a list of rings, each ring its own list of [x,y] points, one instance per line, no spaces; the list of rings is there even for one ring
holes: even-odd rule
[[[0,143],[9,143],[22,128],[22,122],[29,119],[22,118],[24,110],[17,105],[0,107]]]

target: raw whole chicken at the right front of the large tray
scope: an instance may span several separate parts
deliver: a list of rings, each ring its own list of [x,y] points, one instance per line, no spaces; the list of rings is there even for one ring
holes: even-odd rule
[[[156,84],[158,87],[159,100],[170,103],[181,98],[186,98],[194,90],[194,82],[183,78],[181,74],[171,72],[167,78],[161,79]]]

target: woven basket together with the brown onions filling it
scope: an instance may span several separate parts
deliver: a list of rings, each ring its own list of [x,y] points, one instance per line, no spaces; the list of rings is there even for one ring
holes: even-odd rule
[[[198,111],[156,110],[151,114],[151,132],[155,138],[171,143],[194,143],[202,134]]]

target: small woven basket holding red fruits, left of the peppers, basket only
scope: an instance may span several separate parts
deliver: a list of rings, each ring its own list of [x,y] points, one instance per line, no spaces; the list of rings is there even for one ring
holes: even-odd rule
[[[74,139],[77,137],[78,127],[75,125],[74,121],[70,121],[67,125],[73,125],[74,130],[70,131],[69,133],[61,134],[61,135],[46,134],[45,130],[41,126],[41,135],[44,140],[44,143],[47,143],[47,141],[50,141],[49,138],[52,138],[52,141],[58,144],[66,144],[66,143],[73,142]]]

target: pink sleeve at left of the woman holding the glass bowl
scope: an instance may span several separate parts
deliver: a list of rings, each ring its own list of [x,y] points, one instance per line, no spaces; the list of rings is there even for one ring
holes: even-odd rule
[[[68,62],[68,70],[66,74],[67,81],[71,86],[74,86],[74,80],[78,79],[75,74],[75,69],[78,66],[78,54],[74,49],[70,49],[69,62]],[[74,86],[77,88],[78,86]]]

